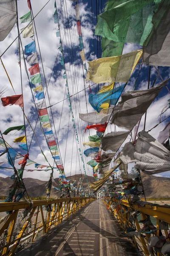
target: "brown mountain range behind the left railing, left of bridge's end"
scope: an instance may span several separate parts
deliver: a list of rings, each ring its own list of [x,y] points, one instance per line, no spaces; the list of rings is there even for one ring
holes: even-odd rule
[[[72,175],[71,177],[67,177],[70,179],[72,182],[75,180],[78,181],[82,177],[83,179],[83,184],[85,188],[87,187],[87,182],[85,180],[85,175]],[[88,176],[88,182],[92,183],[94,182],[94,177]],[[54,179],[57,185],[59,186],[59,178]],[[26,186],[26,190],[28,192],[28,195],[30,197],[45,197],[46,196],[46,184],[48,181],[42,181],[38,179],[33,179],[33,178],[24,178],[24,184]],[[9,192],[9,187],[12,185],[13,181],[11,180],[10,177],[0,177],[0,196],[7,196]],[[54,185],[54,186],[57,186]],[[59,192],[58,192],[59,193]],[[51,195],[52,198],[56,198],[58,194],[56,193],[56,190],[51,189]]]

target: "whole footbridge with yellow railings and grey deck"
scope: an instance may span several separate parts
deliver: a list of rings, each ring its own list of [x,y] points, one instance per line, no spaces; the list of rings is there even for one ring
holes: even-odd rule
[[[152,236],[159,237],[161,232],[169,242],[168,228],[161,230],[161,225],[159,228],[162,221],[170,224],[170,208],[166,206],[146,204],[139,207],[125,200],[118,203],[107,198],[103,201],[62,198],[33,201],[32,204],[1,203],[0,212],[5,211],[9,214],[0,224],[1,255],[149,256]],[[136,233],[143,227],[136,215],[132,221],[130,211],[140,213],[142,220],[154,217],[156,234],[129,235],[127,229],[133,221]],[[163,255],[154,247],[151,250],[153,255]]]

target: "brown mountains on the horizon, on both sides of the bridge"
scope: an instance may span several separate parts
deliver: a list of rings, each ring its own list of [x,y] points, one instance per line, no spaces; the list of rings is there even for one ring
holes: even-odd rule
[[[170,198],[169,188],[170,188],[170,178],[167,177],[156,177],[153,175],[147,175],[141,173],[142,183],[144,186],[144,192],[146,198]],[[72,182],[75,180],[78,181],[82,177],[83,184],[85,188],[87,187],[87,182],[85,180],[85,175],[72,175],[71,177],[67,177]],[[94,177],[87,176],[88,182],[94,182]],[[59,186],[59,178],[54,179],[57,185]],[[0,196],[7,196],[9,187],[12,185],[13,181],[10,177],[0,177]],[[42,181],[33,178],[24,178],[24,183],[30,197],[45,197],[46,196],[46,184],[47,181]],[[54,186],[57,186],[54,185]],[[59,192],[56,193],[56,190],[51,189],[51,197],[56,198],[59,196]]]

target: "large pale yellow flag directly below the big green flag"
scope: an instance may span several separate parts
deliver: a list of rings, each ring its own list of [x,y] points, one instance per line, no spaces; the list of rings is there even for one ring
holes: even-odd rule
[[[127,82],[142,57],[142,50],[89,61],[87,80],[94,83]]]

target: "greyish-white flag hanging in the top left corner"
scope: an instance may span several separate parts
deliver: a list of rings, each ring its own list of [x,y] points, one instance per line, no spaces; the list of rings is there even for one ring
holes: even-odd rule
[[[0,5],[0,41],[3,41],[17,22],[17,3],[6,0]]]

